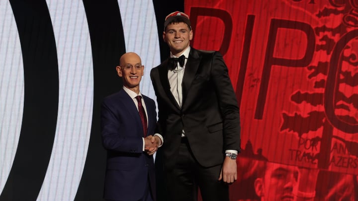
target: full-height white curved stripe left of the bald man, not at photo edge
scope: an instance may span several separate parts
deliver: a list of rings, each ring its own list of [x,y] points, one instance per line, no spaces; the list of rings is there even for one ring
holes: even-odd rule
[[[89,146],[93,108],[93,65],[82,1],[47,0],[59,67],[56,136],[37,200],[73,200]]]

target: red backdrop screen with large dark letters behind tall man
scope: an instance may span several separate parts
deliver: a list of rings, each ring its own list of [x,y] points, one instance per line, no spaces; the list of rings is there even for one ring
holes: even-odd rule
[[[306,179],[317,182],[316,200],[353,199],[358,0],[196,0],[184,7],[191,46],[223,54],[240,106],[240,176],[231,199],[260,197],[242,188],[255,183],[260,161],[314,170]]]

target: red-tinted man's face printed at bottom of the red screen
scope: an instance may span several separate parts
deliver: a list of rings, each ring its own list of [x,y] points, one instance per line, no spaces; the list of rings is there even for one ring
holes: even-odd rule
[[[261,187],[256,186],[258,195],[263,201],[293,201],[292,191],[297,185],[298,168],[278,163],[267,165],[265,177],[259,178]]]

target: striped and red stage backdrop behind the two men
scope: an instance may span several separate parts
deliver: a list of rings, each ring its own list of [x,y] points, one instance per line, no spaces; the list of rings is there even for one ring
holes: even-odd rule
[[[0,201],[101,200],[101,100],[129,51],[155,99],[176,10],[194,48],[224,56],[239,101],[230,199],[259,200],[269,162],[298,170],[291,191],[311,181],[314,200],[358,200],[358,0],[0,0]]]

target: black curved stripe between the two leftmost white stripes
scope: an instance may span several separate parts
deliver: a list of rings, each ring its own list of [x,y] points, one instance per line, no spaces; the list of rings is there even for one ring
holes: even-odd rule
[[[1,183],[6,183],[0,200],[31,200],[41,189],[55,138],[59,100],[57,51],[46,2],[9,2],[21,43],[24,105],[12,167],[6,179],[1,175]],[[1,0],[3,3],[7,2]],[[3,135],[6,134],[1,132]]]

